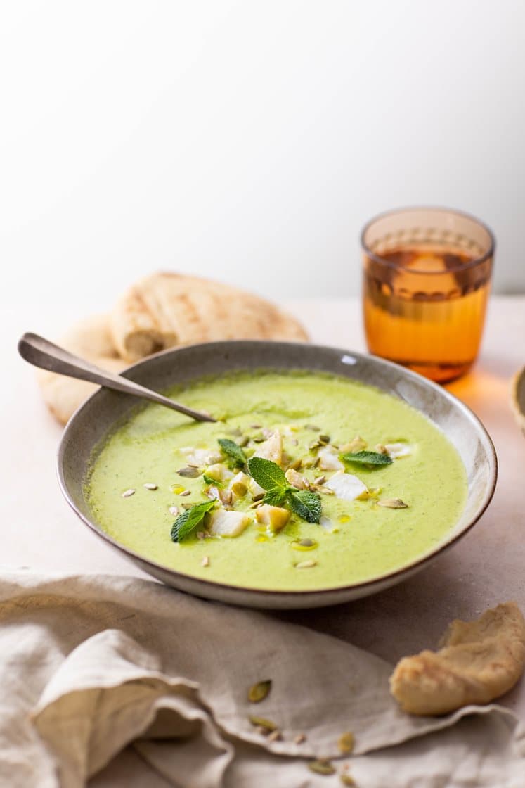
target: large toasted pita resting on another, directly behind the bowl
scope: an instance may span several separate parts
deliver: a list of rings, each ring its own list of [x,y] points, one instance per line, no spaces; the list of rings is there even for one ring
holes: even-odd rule
[[[138,361],[175,345],[231,339],[308,339],[272,303],[220,282],[153,273],[129,288],[111,314],[121,358]]]

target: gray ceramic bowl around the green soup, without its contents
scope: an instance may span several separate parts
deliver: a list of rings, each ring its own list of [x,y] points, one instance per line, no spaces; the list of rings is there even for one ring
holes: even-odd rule
[[[68,504],[94,533],[128,556],[142,570],[167,585],[197,597],[251,608],[316,608],[338,604],[382,591],[416,574],[464,535],[482,515],[494,494],[497,460],[494,446],[479,419],[463,403],[420,375],[371,355],[310,344],[224,341],[192,345],[151,356],[123,374],[162,391],[205,375],[231,370],[319,370],[349,377],[383,389],[409,403],[446,434],[457,448],[468,476],[468,500],[460,521],[433,552],[385,576],[318,591],[268,591],[210,582],[163,567],[125,548],[96,522],[83,496],[83,481],[94,450],[115,426],[137,408],[134,397],[108,389],[95,392],[72,415],[57,456],[61,490]]]

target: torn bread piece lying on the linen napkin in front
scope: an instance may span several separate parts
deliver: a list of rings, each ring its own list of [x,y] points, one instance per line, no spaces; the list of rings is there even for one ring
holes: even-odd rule
[[[404,712],[446,714],[506,693],[523,673],[525,621],[515,602],[505,602],[475,621],[453,621],[441,645],[397,663],[390,692]]]

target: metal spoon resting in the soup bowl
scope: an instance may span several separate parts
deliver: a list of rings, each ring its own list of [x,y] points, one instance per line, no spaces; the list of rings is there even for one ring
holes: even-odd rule
[[[78,377],[81,381],[98,383],[105,388],[113,388],[117,392],[140,396],[144,400],[151,400],[159,405],[171,407],[173,411],[191,416],[197,422],[216,422],[216,418],[207,413],[192,411],[190,407],[181,405],[175,400],[169,400],[168,397],[157,394],[150,388],[128,381],[127,377],[101,370],[100,367],[94,366],[84,359],[79,359],[78,356],[69,353],[64,348],[59,348],[58,345],[45,340],[43,336],[38,334],[25,333],[18,342],[18,352],[23,359],[33,366],[42,367],[43,370],[50,370],[50,372],[68,377]]]

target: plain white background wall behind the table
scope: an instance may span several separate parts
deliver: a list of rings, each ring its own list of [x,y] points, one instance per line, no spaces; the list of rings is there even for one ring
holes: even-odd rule
[[[482,217],[525,290],[520,0],[1,8],[4,298],[104,309],[157,268],[356,293],[361,225],[416,203]]]

